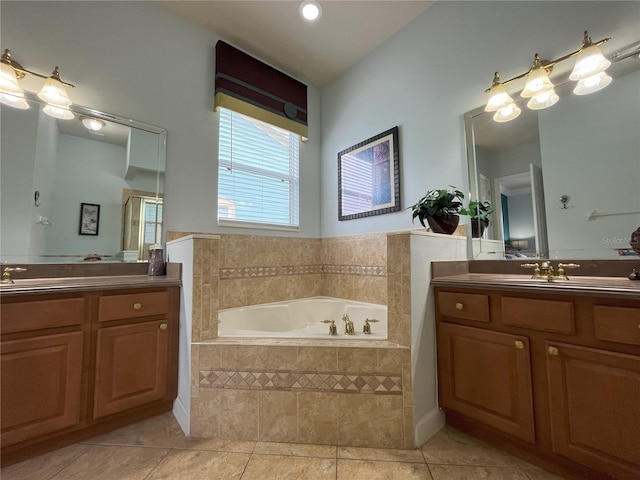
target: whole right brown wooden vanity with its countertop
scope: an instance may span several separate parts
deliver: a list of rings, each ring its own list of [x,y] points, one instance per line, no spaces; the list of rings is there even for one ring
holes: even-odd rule
[[[640,478],[640,282],[432,284],[447,423],[569,478]]]

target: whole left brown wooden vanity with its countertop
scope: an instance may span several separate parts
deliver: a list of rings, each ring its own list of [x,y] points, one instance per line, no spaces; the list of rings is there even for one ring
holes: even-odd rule
[[[179,278],[2,285],[4,465],[172,408]]]

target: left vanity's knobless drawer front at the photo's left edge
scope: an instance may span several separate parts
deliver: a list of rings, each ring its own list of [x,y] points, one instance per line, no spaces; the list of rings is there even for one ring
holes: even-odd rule
[[[85,317],[85,299],[59,298],[3,303],[0,314],[2,333],[81,325]]]

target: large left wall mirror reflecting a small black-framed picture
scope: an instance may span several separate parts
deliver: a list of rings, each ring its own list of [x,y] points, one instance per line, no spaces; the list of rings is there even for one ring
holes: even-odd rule
[[[59,120],[28,103],[0,109],[1,261],[146,260],[162,241],[166,131],[79,105]]]

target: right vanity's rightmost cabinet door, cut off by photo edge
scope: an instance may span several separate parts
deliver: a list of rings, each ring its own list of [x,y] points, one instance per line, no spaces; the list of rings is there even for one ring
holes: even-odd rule
[[[640,357],[547,342],[556,453],[615,478],[640,478]]]

